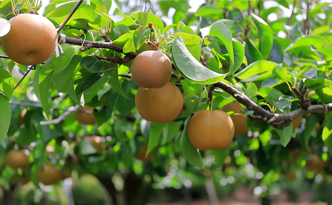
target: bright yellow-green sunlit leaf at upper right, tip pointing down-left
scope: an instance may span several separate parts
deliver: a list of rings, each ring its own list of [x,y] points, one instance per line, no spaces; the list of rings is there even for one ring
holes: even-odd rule
[[[320,48],[324,43],[328,42],[324,37],[318,35],[307,35],[301,36],[295,39],[294,43],[291,43],[285,51],[302,47],[302,46],[313,46],[314,48]]]

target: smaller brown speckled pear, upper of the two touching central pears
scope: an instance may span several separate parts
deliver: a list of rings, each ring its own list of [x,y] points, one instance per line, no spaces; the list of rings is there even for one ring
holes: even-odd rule
[[[144,51],[131,64],[131,76],[143,88],[162,88],[171,75],[172,64],[160,51]]]

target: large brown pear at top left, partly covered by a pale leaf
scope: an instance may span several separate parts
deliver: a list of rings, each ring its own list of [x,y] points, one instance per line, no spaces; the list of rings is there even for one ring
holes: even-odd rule
[[[21,65],[36,65],[50,58],[58,43],[53,23],[43,16],[19,14],[9,19],[10,31],[1,37],[4,53]]]

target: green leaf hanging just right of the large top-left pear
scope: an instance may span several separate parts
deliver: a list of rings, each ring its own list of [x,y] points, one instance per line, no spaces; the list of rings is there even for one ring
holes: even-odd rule
[[[79,51],[80,46],[70,45],[67,43],[61,44],[64,54],[60,54],[60,57],[54,58],[54,69],[57,73],[65,69],[74,55]]]

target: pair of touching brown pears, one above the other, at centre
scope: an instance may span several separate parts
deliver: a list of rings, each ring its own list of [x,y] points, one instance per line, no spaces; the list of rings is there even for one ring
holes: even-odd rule
[[[131,64],[131,75],[140,86],[135,105],[147,121],[167,123],[175,120],[183,108],[181,91],[172,82],[172,64],[160,51],[144,51]]]

